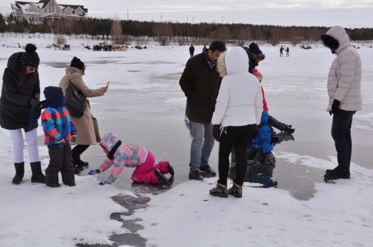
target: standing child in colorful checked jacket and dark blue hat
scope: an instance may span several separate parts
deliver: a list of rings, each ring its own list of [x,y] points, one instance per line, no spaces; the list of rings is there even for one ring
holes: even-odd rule
[[[45,135],[44,144],[48,145],[49,165],[45,169],[45,184],[60,187],[58,172],[68,186],[75,186],[74,167],[69,142],[76,139],[76,129],[70,120],[68,109],[64,106],[64,93],[59,87],[44,89],[45,110],[41,113],[41,124]]]

